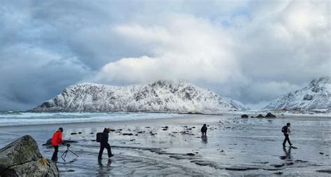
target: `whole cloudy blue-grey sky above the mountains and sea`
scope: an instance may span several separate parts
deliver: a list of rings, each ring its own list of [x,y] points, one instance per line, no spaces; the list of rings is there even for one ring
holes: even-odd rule
[[[0,110],[184,80],[262,108],[331,76],[331,1],[0,1]]]

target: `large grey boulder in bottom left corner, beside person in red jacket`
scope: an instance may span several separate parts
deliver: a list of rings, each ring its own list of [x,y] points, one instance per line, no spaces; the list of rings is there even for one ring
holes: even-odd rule
[[[59,169],[41,155],[29,135],[0,149],[0,176],[59,176]]]

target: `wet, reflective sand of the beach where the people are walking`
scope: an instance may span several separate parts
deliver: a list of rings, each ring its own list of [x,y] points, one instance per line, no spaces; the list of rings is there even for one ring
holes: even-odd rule
[[[283,148],[281,127],[291,123],[290,140],[297,149]],[[200,127],[209,125],[207,137]],[[64,127],[71,143],[66,162],[59,148],[61,176],[330,176],[330,118],[238,118],[237,115],[187,115],[180,118],[0,127],[0,146],[30,134],[41,153],[50,158],[53,149],[42,146],[52,133]],[[96,132],[110,132],[115,155],[104,150],[98,162]],[[167,128],[168,127],[168,128]]]

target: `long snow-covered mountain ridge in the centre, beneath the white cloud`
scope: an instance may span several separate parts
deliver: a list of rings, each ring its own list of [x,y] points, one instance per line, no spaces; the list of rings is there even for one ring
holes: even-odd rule
[[[32,111],[241,111],[242,104],[227,102],[212,91],[183,81],[159,80],[147,85],[111,86],[81,83]]]

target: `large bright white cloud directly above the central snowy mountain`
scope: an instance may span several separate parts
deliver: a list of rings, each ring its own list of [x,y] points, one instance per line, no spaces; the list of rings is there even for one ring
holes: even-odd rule
[[[233,41],[216,24],[192,15],[170,14],[162,24],[125,24],[112,28],[124,41],[148,51],[103,66],[99,83],[146,83],[158,79],[226,83],[242,80]]]

